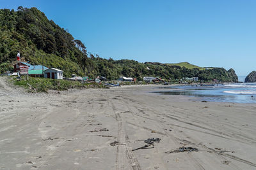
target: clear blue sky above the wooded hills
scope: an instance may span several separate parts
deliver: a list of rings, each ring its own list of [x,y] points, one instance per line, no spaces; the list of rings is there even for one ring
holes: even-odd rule
[[[255,0],[0,0],[18,6],[35,6],[107,59],[256,70]]]

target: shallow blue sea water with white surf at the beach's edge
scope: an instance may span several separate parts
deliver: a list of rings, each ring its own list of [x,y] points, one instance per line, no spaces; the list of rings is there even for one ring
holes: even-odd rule
[[[214,86],[163,87],[156,93],[198,97],[204,101],[256,103],[256,83],[230,83]]]

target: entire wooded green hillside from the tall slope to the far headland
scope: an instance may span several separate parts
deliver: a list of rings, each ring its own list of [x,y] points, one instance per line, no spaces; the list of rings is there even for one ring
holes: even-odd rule
[[[223,68],[202,69],[175,64],[153,62],[140,63],[134,60],[102,59],[88,55],[86,46],[74,39],[68,31],[48,20],[36,8],[0,10],[0,72],[10,70],[17,52],[30,64],[42,64],[64,71],[64,76],[77,74],[95,78],[105,76],[116,80],[119,76],[131,76],[142,80],[143,76],[159,76],[168,80],[198,76],[200,80],[237,81],[236,73]]]

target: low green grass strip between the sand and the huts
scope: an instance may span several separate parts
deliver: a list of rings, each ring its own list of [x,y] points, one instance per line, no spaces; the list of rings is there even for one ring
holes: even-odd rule
[[[68,89],[88,89],[88,88],[106,88],[104,85],[90,82],[81,83],[79,81],[54,80],[49,78],[33,78],[19,81],[17,78],[12,79],[14,85],[19,85],[28,89],[29,92],[48,92],[49,90],[68,90]]]

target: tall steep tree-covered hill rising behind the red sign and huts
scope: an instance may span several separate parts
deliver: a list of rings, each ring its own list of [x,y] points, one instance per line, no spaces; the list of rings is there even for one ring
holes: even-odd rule
[[[31,64],[42,64],[72,73],[84,74],[87,53],[83,43],[48,20],[36,8],[0,10],[0,63],[12,62],[17,52]],[[78,47],[78,48],[77,48]]]

